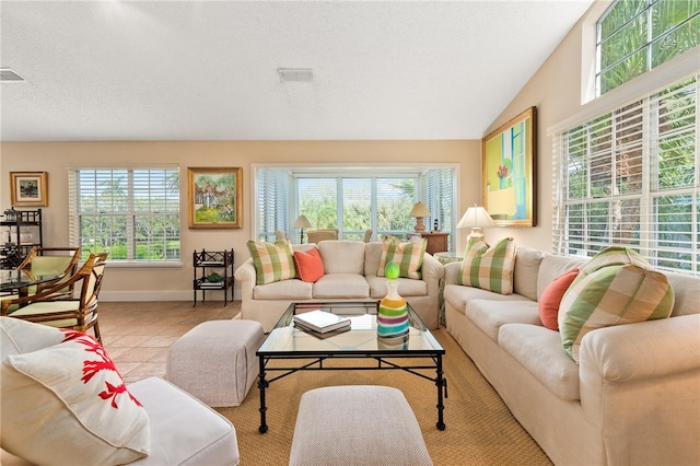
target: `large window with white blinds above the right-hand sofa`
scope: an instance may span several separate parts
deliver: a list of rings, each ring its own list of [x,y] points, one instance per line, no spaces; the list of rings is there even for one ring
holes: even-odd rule
[[[555,135],[553,251],[700,275],[698,74]]]

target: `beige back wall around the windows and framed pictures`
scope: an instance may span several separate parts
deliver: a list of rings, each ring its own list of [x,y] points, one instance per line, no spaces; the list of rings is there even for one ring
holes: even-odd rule
[[[49,206],[44,209],[44,244],[68,244],[69,165],[176,163],[180,167],[180,268],[110,267],[103,299],[115,301],[191,300],[191,252],[235,249],[236,266],[249,257],[250,164],[267,163],[459,163],[458,211],[480,197],[480,141],[159,141],[159,142],[3,142],[0,144],[0,206],[10,206],[9,172],[48,172]],[[243,167],[244,217],[241,230],[187,228],[187,167]],[[466,233],[465,233],[466,234]],[[237,287],[236,287],[237,289]],[[222,299],[220,292],[210,299]],[[198,298],[199,299],[199,298]]]

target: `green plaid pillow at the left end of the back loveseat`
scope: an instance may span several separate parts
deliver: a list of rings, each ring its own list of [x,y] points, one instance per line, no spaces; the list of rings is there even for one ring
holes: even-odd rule
[[[257,284],[296,278],[294,255],[289,242],[248,241],[246,245],[253,257]]]

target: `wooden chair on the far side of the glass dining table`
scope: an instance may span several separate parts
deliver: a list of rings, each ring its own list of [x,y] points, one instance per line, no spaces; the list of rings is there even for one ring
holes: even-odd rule
[[[38,287],[31,287],[28,294],[35,294],[54,287],[56,283],[67,281],[75,273],[78,261],[80,260],[80,247],[33,247],[30,254],[24,258],[18,267],[19,270],[32,272],[34,275],[45,273],[63,273],[63,277],[48,283],[42,283]],[[56,298],[73,296],[73,287],[66,286],[56,292]]]

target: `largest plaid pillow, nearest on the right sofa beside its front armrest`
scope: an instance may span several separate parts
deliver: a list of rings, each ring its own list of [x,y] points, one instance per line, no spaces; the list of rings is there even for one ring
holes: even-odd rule
[[[559,307],[564,350],[579,362],[583,337],[612,325],[666,318],[674,290],[662,272],[637,252],[610,246],[582,267]]]

